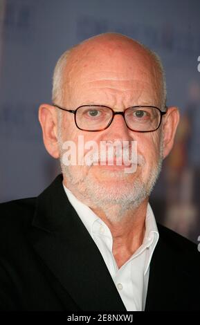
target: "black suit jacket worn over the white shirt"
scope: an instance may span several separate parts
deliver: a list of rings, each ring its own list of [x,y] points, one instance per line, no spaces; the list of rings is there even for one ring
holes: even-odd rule
[[[62,175],[37,198],[0,205],[0,310],[125,311]],[[200,310],[200,253],[158,225],[145,310]]]

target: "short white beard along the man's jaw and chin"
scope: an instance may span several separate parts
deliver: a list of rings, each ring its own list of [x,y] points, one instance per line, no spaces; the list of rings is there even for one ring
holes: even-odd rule
[[[77,176],[77,174],[75,176],[68,166],[61,165],[62,174],[66,178],[67,187],[71,189],[71,192],[75,193],[74,189],[76,189],[81,201],[87,203],[90,207],[98,207],[103,210],[107,219],[116,222],[120,221],[126,211],[135,210],[150,195],[161,172],[162,161],[163,159],[159,159],[158,165],[152,170],[147,183],[141,181],[139,176],[134,178],[134,183],[125,182],[124,172],[122,172],[122,181],[120,180],[119,171],[113,173],[116,180],[114,183],[100,183],[91,174],[87,174],[84,178]],[[110,176],[111,172],[109,171]]]

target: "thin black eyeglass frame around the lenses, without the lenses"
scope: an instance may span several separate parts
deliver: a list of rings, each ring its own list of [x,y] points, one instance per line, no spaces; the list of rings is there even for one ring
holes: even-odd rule
[[[76,112],[78,111],[78,109],[80,109],[80,107],[104,107],[104,108],[107,108],[107,109],[110,109],[112,111],[112,118],[109,122],[109,124],[107,124],[107,127],[104,127],[103,129],[99,129],[99,130],[87,130],[87,129],[81,129],[80,127],[78,127],[78,129],[82,130],[82,131],[89,131],[89,132],[98,132],[98,131],[104,131],[105,129],[107,129],[110,125],[111,125],[111,122],[113,122],[113,118],[115,115],[122,115],[122,117],[124,118],[125,120],[125,112],[128,110],[128,109],[136,109],[136,108],[140,108],[140,107],[152,107],[154,109],[158,109],[158,107],[156,106],[150,106],[150,105],[139,105],[139,106],[131,106],[131,107],[128,107],[127,109],[125,109],[125,111],[121,111],[121,112],[116,112],[116,111],[113,111],[113,109],[111,109],[111,107],[108,107],[108,106],[105,106],[105,105],[97,105],[97,104],[88,104],[88,105],[81,105],[79,106],[77,109],[65,109],[64,107],[62,106],[59,106],[59,105],[56,105],[56,104],[52,104],[52,106],[55,106],[57,107],[58,109],[62,109],[62,111],[67,111],[67,112],[70,112],[70,113],[73,113],[74,114],[74,122],[75,122],[75,125],[76,127],[78,127],[78,124],[76,122]],[[167,106],[165,106],[165,109],[166,111],[161,111],[161,109],[158,109],[158,111],[160,112],[160,122],[158,124],[158,127],[160,127],[161,125],[161,121],[162,121],[162,118],[163,118],[163,115],[165,115],[167,113]],[[131,129],[128,125],[127,125],[127,122],[125,120],[125,123],[126,123],[126,126],[129,130],[131,131],[135,131],[135,132],[154,132],[158,129],[158,127],[156,127],[156,129],[154,130],[149,130],[149,131],[137,131],[137,130],[133,130]]]

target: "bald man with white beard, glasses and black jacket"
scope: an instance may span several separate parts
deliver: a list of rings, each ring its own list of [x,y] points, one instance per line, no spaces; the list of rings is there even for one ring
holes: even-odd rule
[[[53,104],[39,107],[62,174],[1,205],[1,310],[199,310],[197,247],[157,225],[148,203],[179,123],[165,97],[161,62],[129,37],[62,55]]]

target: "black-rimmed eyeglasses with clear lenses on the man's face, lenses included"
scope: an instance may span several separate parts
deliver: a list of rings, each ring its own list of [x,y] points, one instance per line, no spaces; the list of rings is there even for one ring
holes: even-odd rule
[[[107,129],[115,115],[122,115],[127,128],[137,132],[156,131],[161,125],[163,115],[166,111],[161,111],[156,106],[133,106],[122,112],[113,111],[104,105],[82,105],[78,109],[65,109],[62,106],[53,106],[63,111],[74,114],[75,124],[82,131],[103,131]]]

